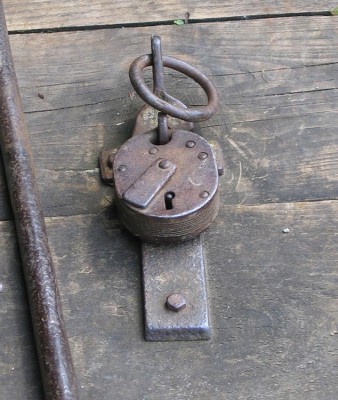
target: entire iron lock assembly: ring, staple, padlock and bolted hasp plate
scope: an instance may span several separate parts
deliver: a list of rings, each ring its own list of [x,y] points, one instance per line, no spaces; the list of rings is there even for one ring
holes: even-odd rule
[[[114,186],[121,222],[143,241],[146,340],[209,339],[200,235],[217,215],[218,178],[224,165],[217,143],[196,134],[193,122],[215,113],[217,93],[189,64],[162,57],[159,37],[152,37],[151,44],[152,54],[138,57],[129,70],[130,81],[146,104],[132,137],[118,150],[102,151],[101,175]],[[148,66],[153,68],[153,93],[142,77]],[[195,80],[208,104],[186,107],[168,95],[163,67]]]

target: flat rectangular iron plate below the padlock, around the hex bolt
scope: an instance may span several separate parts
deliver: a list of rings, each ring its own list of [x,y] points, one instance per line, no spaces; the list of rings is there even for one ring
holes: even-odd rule
[[[145,338],[149,341],[210,339],[201,238],[178,244],[141,244]],[[172,293],[185,296],[186,308],[166,308]]]

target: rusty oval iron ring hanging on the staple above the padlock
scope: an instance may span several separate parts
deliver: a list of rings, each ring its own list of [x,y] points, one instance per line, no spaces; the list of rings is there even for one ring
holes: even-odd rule
[[[168,115],[171,115],[172,117],[176,117],[184,121],[205,121],[215,114],[218,96],[216,89],[210,80],[204,74],[202,74],[202,72],[198,71],[196,68],[185,63],[184,61],[178,60],[177,58],[163,56],[162,60],[165,67],[181,72],[197,82],[204,89],[208,97],[208,104],[206,106],[182,108],[170,104],[152,93],[142,77],[143,69],[153,64],[153,58],[151,54],[145,54],[136,58],[129,69],[131,84],[141,99],[156,110],[162,111]]]

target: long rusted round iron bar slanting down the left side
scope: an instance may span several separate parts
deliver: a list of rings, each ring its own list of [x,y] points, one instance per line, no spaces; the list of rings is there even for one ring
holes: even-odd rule
[[[28,132],[0,0],[0,144],[15,218],[46,400],[76,400],[77,388],[48,247]]]

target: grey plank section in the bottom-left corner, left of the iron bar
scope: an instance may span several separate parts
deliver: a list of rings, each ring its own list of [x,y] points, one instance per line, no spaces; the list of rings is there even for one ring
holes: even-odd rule
[[[0,223],[0,398],[42,400],[14,226]]]

